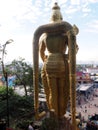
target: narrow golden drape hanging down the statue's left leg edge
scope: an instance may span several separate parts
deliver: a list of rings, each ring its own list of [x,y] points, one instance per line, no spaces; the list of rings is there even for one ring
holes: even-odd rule
[[[41,77],[42,77],[42,84],[43,84],[43,87],[44,87],[44,91],[45,91],[45,94],[46,94],[47,107],[50,109],[50,105],[49,105],[49,86],[48,86],[48,83],[47,83],[47,77],[46,77],[46,72],[45,72],[44,67],[42,68],[42,71],[41,71]]]

